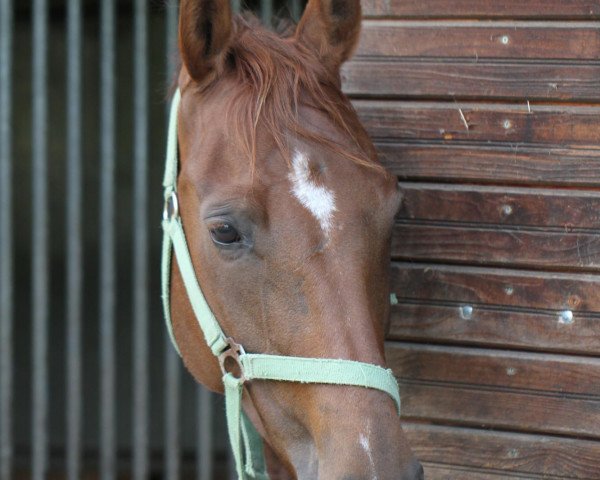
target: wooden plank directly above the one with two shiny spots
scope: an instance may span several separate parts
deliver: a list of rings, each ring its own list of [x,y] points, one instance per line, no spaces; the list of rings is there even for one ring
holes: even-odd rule
[[[600,275],[393,263],[391,281],[401,300],[600,312]]]

